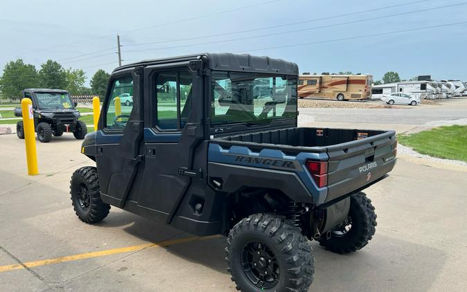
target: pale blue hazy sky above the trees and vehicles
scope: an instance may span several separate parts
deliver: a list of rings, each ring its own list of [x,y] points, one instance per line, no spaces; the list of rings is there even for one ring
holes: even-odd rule
[[[292,61],[300,73],[352,71],[380,80],[396,71],[403,79],[467,80],[463,3],[2,0],[0,73],[18,58],[38,69],[52,59],[65,68],[83,69],[89,84],[98,69],[111,72],[118,66],[120,34],[122,64],[230,52]]]

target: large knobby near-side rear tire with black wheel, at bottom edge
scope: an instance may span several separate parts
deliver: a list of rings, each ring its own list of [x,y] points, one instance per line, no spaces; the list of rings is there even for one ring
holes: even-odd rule
[[[230,230],[226,253],[237,290],[308,291],[313,282],[311,243],[284,217],[255,214],[242,219]]]

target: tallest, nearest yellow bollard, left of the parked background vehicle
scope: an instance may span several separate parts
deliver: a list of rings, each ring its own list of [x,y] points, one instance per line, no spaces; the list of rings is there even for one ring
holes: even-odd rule
[[[28,163],[28,174],[36,175],[37,170],[37,150],[36,137],[34,135],[34,113],[33,102],[29,98],[21,100],[21,110],[23,114],[24,141],[26,144],[26,162]]]

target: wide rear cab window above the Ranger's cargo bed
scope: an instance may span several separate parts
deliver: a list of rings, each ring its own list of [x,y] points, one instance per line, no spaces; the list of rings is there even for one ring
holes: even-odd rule
[[[212,73],[212,125],[268,124],[297,117],[297,76]]]

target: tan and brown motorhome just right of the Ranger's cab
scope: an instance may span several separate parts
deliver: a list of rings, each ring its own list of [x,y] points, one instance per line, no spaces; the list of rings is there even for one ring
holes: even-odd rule
[[[300,75],[299,98],[367,100],[372,97],[372,75]]]

